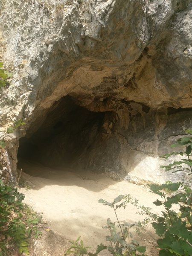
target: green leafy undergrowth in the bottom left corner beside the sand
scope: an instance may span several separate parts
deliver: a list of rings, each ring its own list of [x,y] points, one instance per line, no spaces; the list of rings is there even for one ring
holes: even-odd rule
[[[0,180],[0,256],[9,255],[12,247],[16,246],[19,253],[29,254],[28,239],[34,231],[40,218],[34,214],[26,215],[22,203],[24,195],[17,188],[4,184]],[[38,235],[40,232],[38,231]]]

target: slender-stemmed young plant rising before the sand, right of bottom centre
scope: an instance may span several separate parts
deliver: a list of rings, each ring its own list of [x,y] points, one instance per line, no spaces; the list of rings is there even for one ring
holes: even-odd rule
[[[132,240],[133,236],[132,236],[132,233],[130,232],[130,229],[135,224],[130,224],[130,223],[121,224],[116,213],[116,210],[118,208],[125,207],[125,205],[128,203],[128,201],[127,202],[122,201],[123,199],[125,199],[124,195],[119,195],[111,203],[103,199],[99,199],[99,203],[113,208],[116,219],[117,219],[118,228],[120,230],[119,231],[118,228],[116,228],[116,224],[112,223],[111,220],[108,218],[107,225],[104,227],[104,228],[107,228],[110,232],[110,236],[106,236],[106,240],[110,242],[110,245],[108,246],[108,250],[114,256],[140,255],[138,253],[144,253],[146,250],[146,247],[140,246],[137,243],[137,241]],[[121,204],[118,204],[119,202],[121,202]],[[142,254],[142,256],[144,256],[144,254]]]

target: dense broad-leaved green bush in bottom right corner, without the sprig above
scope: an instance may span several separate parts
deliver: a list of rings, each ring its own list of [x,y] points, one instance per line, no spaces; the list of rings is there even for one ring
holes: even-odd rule
[[[178,192],[180,188],[182,191]],[[190,256],[192,255],[192,189],[181,183],[151,185],[151,192],[160,195],[162,200],[154,202],[163,206],[162,216],[152,222],[156,234],[162,236],[157,240],[160,256]],[[167,196],[165,190],[175,192]],[[180,206],[178,214],[172,209],[172,204]]]

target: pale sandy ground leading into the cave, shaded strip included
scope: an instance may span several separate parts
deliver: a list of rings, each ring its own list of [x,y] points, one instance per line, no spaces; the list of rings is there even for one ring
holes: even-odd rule
[[[158,196],[144,186],[114,181],[106,175],[89,172],[53,170],[37,163],[23,162],[20,166],[26,172],[22,175],[23,182],[27,181],[31,186],[31,189],[20,189],[25,194],[24,201],[43,214],[48,221],[47,227],[67,240],[81,236],[86,245],[94,247],[101,242],[107,244],[107,230],[102,226],[107,218],[112,221],[116,221],[116,218],[111,207],[98,204],[99,198],[113,201],[120,194],[131,194],[141,205],[151,207],[153,212],[160,213],[162,210],[152,203]],[[118,209],[118,216],[121,221],[130,223],[143,220],[144,216],[136,212],[134,206],[128,205],[126,209]],[[142,236],[135,232],[133,235],[141,245],[148,245],[148,256],[158,255],[151,225]]]

